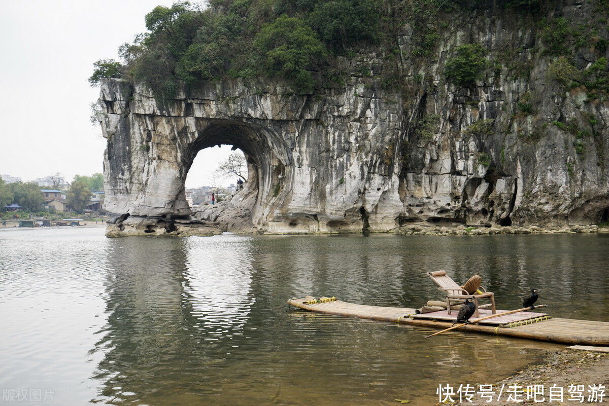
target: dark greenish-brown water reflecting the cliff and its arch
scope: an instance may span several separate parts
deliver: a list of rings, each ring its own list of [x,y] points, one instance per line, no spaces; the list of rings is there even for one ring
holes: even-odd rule
[[[104,294],[108,322],[93,350],[104,354],[93,377],[101,385],[94,401],[382,404],[409,393],[418,399],[412,404],[425,404],[433,398],[438,374],[445,382],[460,382],[465,368],[470,383],[489,382],[537,360],[537,349],[554,346],[474,334],[447,335],[430,345],[424,329],[290,312],[286,299],[326,294],[381,306],[421,305],[438,295],[425,272],[448,269],[456,280],[481,274],[502,308],[518,306],[521,292],[536,286],[556,314],[585,317],[606,300],[600,287],[607,283],[606,264],[597,261],[607,241],[601,236],[114,239]],[[588,283],[578,276],[584,269]],[[589,301],[572,306],[582,295]]]

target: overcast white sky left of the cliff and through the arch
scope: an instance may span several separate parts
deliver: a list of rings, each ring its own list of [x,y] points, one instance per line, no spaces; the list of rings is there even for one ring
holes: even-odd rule
[[[0,0],[0,173],[24,181],[102,171],[105,139],[89,121],[99,89],[93,62],[144,32],[144,15],[165,0]],[[217,181],[229,146],[195,159],[186,187]]]

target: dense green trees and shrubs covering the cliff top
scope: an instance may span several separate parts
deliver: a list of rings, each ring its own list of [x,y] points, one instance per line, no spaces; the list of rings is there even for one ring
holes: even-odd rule
[[[601,8],[607,2],[595,1]],[[286,80],[295,92],[307,94],[314,91],[317,76],[342,83],[344,72],[336,69],[337,57],[373,51],[384,55],[383,87],[399,88],[404,79],[396,68],[401,52],[396,36],[403,33],[406,24],[412,28],[412,57],[421,60],[433,55],[454,13],[477,13],[474,10],[489,7],[499,13],[555,14],[550,12],[555,9],[552,0],[177,2],[148,13],[148,31],[119,47],[122,63],[97,61],[90,82],[96,84],[102,77],[126,77],[147,84],[160,97],[172,97],[181,80],[195,84],[201,80],[270,77]],[[574,53],[583,47],[592,46],[602,56],[607,49],[606,32],[599,33],[594,24],[576,26],[560,15],[527,21],[539,39],[539,52],[562,58],[549,78],[555,77],[565,86],[574,81],[607,90],[606,63],[597,61],[593,71],[588,67],[586,72],[575,72],[567,66],[575,68]],[[515,64],[508,67],[516,77],[526,76],[526,64],[515,63],[517,52],[505,50],[506,63]],[[492,68],[500,73],[501,66],[498,58],[490,57],[485,44],[471,43],[451,50],[444,73],[457,86],[472,86],[485,70]]]

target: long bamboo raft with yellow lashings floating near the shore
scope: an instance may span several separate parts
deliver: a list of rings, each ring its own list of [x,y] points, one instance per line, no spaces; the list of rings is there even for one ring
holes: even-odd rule
[[[449,328],[452,325],[450,322],[440,320],[410,317],[415,314],[415,309],[356,305],[355,303],[326,297],[322,298],[322,303],[314,302],[317,302],[317,300],[312,296],[306,296],[303,299],[291,298],[287,301],[290,306],[295,308],[325,314],[368,318],[382,322],[437,329]],[[592,320],[575,320],[572,318],[551,318],[546,320],[534,318],[507,325],[470,324],[463,326],[459,330],[564,344],[609,345],[609,323],[594,322]]]

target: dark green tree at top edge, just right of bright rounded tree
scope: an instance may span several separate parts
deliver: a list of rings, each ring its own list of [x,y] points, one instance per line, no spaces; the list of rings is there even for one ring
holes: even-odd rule
[[[373,0],[318,1],[308,21],[334,52],[379,39],[379,12]]]

